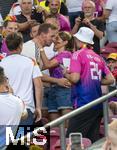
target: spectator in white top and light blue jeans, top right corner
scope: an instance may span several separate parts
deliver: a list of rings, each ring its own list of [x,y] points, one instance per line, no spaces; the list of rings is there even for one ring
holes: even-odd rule
[[[117,1],[107,0],[104,18],[107,19],[106,31],[109,43],[117,42]]]

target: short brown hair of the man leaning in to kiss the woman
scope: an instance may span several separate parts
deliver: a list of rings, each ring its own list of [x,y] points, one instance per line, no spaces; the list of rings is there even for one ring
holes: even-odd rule
[[[41,33],[45,33],[46,34],[46,33],[48,33],[49,29],[57,30],[57,27],[52,25],[52,24],[49,24],[49,23],[43,23],[39,27],[38,34],[41,34]]]

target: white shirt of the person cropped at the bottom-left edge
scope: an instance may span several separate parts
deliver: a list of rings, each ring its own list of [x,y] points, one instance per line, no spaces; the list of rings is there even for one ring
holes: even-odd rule
[[[23,111],[21,99],[9,93],[0,93],[0,125],[19,125]]]

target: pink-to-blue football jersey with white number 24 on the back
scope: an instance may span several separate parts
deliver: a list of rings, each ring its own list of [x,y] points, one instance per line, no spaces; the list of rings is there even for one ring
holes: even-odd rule
[[[103,59],[87,48],[73,53],[70,72],[80,74],[76,84],[78,107],[102,96],[101,79],[110,74]]]

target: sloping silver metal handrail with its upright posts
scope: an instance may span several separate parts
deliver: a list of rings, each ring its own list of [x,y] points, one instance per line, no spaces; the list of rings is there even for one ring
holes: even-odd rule
[[[103,115],[104,115],[104,131],[105,131],[105,136],[108,135],[108,98],[114,96],[117,94],[117,90],[114,90],[88,104],[86,104],[85,106],[82,106],[76,110],[73,110],[72,112],[59,117],[58,119],[51,121],[49,123],[47,123],[44,127],[48,128],[48,127],[55,127],[55,126],[60,126],[60,141],[61,141],[61,150],[66,150],[66,138],[65,138],[65,130],[64,130],[64,122],[67,119],[70,119],[90,108],[92,108],[93,106],[96,106],[100,103],[103,103]],[[39,130],[40,128],[35,129],[35,131]],[[25,136],[26,138],[26,136]],[[14,141],[14,143],[17,142],[17,140]]]

